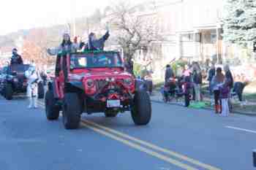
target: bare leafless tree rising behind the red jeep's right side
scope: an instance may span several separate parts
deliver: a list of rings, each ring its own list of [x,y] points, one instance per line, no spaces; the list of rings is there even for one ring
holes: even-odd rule
[[[133,73],[132,58],[137,50],[151,42],[162,39],[159,36],[158,16],[152,11],[140,11],[145,4],[132,5],[121,1],[111,7],[110,24],[115,31],[115,39],[121,45],[129,72]],[[113,33],[112,33],[113,34]]]

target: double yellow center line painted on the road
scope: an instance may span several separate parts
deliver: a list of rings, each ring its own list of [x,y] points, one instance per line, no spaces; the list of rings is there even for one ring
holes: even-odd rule
[[[44,106],[44,104],[42,104],[42,106]],[[92,130],[97,129],[97,132],[98,132],[99,134],[104,133],[105,136],[109,136],[110,138],[115,139],[115,140],[118,140],[119,142],[122,142],[122,143],[124,143],[124,144],[127,144],[127,145],[129,145],[130,147],[134,147],[135,149],[138,149],[138,147],[140,147],[140,149],[138,149],[138,150],[140,150],[140,151],[142,151],[142,152],[147,152],[149,155],[154,155],[155,157],[157,157],[157,158],[159,158],[159,159],[162,159],[162,160],[164,160],[164,161],[167,161],[167,162],[169,162],[169,163],[173,163],[173,164],[175,164],[176,166],[181,165],[181,164],[183,165],[184,163],[181,163],[181,162],[178,162],[178,161],[173,160],[173,159],[171,159],[171,158],[168,158],[168,157],[166,157],[165,155],[161,155],[161,154],[159,154],[158,152],[154,152],[153,150],[157,150],[157,151],[159,151],[159,152],[164,152],[164,153],[166,153],[167,155],[171,155],[171,156],[176,157],[176,158],[179,158],[179,159],[181,159],[181,160],[183,160],[183,161],[187,161],[187,162],[192,163],[192,164],[194,164],[194,165],[200,166],[200,167],[202,167],[202,168],[204,168],[204,169],[208,169],[208,170],[221,170],[221,169],[218,169],[218,168],[216,168],[216,167],[214,167],[214,166],[207,165],[206,163],[201,163],[200,161],[196,161],[195,159],[188,158],[188,157],[185,156],[185,155],[181,155],[181,154],[179,154],[179,153],[177,153],[177,152],[173,152],[173,151],[171,151],[171,150],[167,150],[167,149],[165,149],[165,148],[158,147],[157,145],[154,145],[154,144],[151,144],[151,143],[142,141],[142,140],[137,139],[137,138],[135,138],[135,137],[129,136],[129,135],[127,135],[127,134],[123,134],[123,133],[121,133],[121,132],[119,132],[119,131],[113,130],[112,128],[107,128],[107,127],[105,127],[105,126],[103,126],[103,125],[99,125],[99,124],[94,123],[94,122],[91,122],[91,121],[89,121],[89,120],[81,120],[81,122],[82,122],[83,125],[86,125],[87,128],[90,127]],[[102,131],[102,130],[104,130],[104,131]],[[96,130],[95,130],[95,131],[96,131]],[[100,131],[100,132],[99,132],[99,131]],[[112,133],[112,134],[110,134],[110,133]],[[108,135],[106,135],[106,134],[108,134]],[[118,136],[121,136],[121,137],[123,137],[123,138],[125,138],[125,139],[119,138],[118,136],[114,136],[113,134],[116,134],[116,135],[118,135]],[[138,144],[129,142],[129,141],[126,140],[126,139],[129,139],[130,141],[136,142],[136,143],[138,143]],[[128,143],[127,143],[127,142],[128,142]],[[146,146],[146,147],[149,147],[149,148],[151,148],[151,149],[153,149],[153,150],[148,150],[146,147],[142,147],[142,146],[140,146],[139,144],[144,145],[144,146]],[[155,155],[155,153],[157,153],[157,155]],[[167,160],[167,159],[170,159],[170,160]],[[175,162],[173,162],[173,161],[175,161]],[[176,164],[176,163],[178,163],[178,164]],[[181,163],[181,164],[180,164],[180,163]],[[181,166],[182,166],[182,165],[181,165]],[[184,164],[184,165],[187,166],[186,164]],[[181,167],[181,166],[180,166],[180,167]],[[184,168],[184,167],[181,167],[181,168]],[[190,168],[192,168],[192,167],[190,167]],[[184,169],[187,169],[187,168],[184,168]],[[194,168],[192,168],[192,169],[194,169]]]

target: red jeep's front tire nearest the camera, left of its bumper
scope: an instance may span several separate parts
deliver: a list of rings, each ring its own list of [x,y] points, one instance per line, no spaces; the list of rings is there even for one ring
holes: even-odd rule
[[[80,101],[76,93],[65,93],[63,104],[63,123],[66,129],[75,129],[80,124]]]

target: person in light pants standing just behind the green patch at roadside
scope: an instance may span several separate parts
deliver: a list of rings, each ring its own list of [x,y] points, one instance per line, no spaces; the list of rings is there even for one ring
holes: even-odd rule
[[[200,66],[197,62],[194,63],[192,77],[193,77],[194,89],[195,89],[195,101],[200,101],[201,85],[203,83],[203,77],[202,77]]]

